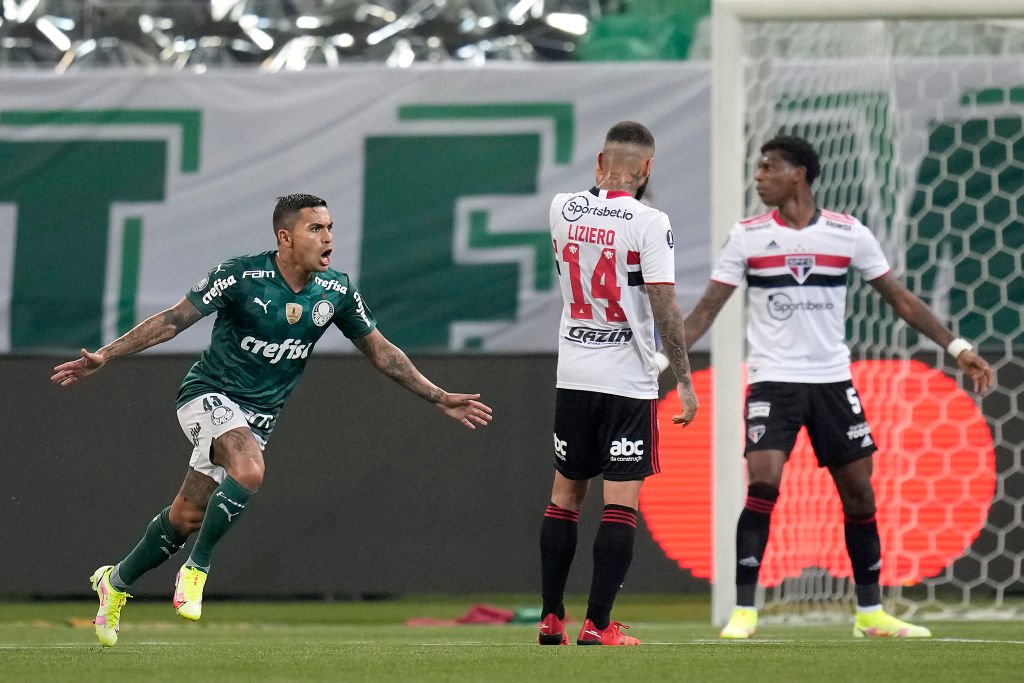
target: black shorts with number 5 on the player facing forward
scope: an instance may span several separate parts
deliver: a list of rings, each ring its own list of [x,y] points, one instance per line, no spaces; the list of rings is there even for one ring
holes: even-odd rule
[[[746,390],[746,449],[790,455],[801,427],[819,467],[844,465],[878,447],[853,382],[756,382]]]

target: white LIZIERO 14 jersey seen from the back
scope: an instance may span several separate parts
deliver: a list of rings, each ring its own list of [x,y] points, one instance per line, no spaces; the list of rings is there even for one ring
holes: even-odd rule
[[[669,217],[629,193],[557,195],[551,239],[562,290],[562,389],[657,398],[654,315],[643,287],[675,285]]]

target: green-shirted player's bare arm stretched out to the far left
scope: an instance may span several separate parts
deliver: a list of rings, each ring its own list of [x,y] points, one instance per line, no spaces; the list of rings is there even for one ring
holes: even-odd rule
[[[74,384],[102,368],[108,360],[138,353],[173,339],[201,317],[203,313],[199,312],[188,299],[182,297],[181,301],[170,308],[151,315],[95,352],[83,348],[81,358],[62,362],[54,368],[50,381],[60,386]]]

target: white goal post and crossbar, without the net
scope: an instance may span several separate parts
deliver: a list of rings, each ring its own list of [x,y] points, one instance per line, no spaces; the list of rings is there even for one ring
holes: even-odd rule
[[[713,0],[712,3],[712,263],[742,217],[748,169],[742,24],[748,20],[1021,18],[1021,0]],[[724,625],[735,604],[735,523],[745,476],[736,434],[743,433],[745,356],[742,297],[734,296],[711,330],[714,463],[712,623]]]

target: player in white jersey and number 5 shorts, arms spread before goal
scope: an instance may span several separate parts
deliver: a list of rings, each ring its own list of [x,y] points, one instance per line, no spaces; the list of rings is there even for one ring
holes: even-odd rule
[[[992,369],[893,275],[866,227],[817,207],[811,183],[818,175],[818,156],[806,140],[775,137],[761,155],[757,190],[773,209],[733,227],[707,291],[686,316],[686,342],[692,344],[745,281],[749,487],[736,528],[737,606],[721,636],[749,638],[757,629],[755,592],[771,512],[782,467],[797,433],[806,427],[818,464],[828,468],[843,503],[857,593],[853,635],[927,638],[928,629],[882,609],[882,551],[870,480],[876,446],[851,381],[845,341],[850,269],[860,272],[913,329],[946,348],[974,380],[975,391],[988,391]]]

